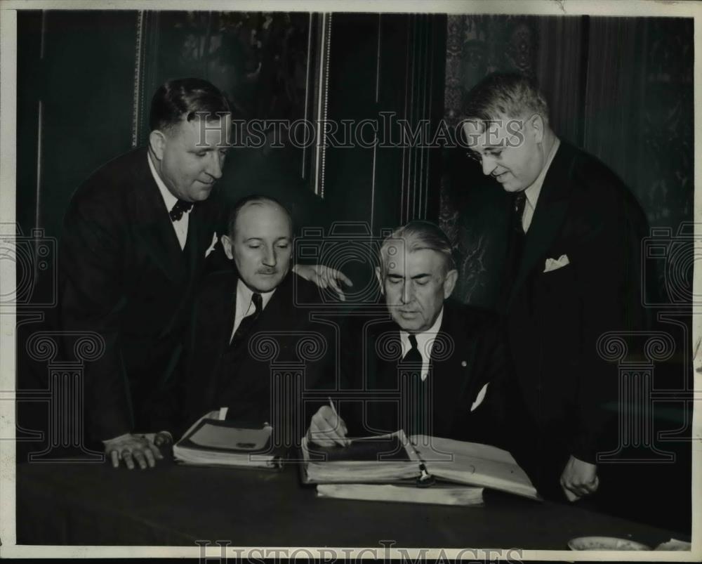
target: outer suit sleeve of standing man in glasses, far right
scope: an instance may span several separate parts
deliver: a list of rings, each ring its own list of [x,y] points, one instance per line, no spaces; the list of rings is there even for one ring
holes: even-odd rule
[[[575,257],[582,296],[583,362],[577,375],[576,429],[569,444],[574,457],[592,464],[597,452],[616,447],[611,429],[621,409],[616,362],[602,358],[598,342],[607,332],[646,327],[640,293],[645,218],[626,199],[599,202],[597,210],[597,221],[583,235],[580,256]]]

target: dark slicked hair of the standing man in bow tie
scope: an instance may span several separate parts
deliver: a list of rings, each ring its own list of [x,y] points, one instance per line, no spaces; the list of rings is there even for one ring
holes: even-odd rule
[[[219,119],[231,113],[227,97],[203,79],[174,79],[159,86],[151,100],[149,125],[154,129],[168,129],[185,119],[190,122],[197,114],[206,119]]]

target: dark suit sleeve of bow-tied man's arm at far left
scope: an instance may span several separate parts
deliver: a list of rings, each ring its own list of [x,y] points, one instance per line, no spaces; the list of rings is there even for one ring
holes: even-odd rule
[[[60,242],[60,316],[65,332],[95,332],[104,353],[84,368],[84,398],[92,438],[132,431],[131,404],[121,350],[124,307],[122,227],[104,202],[72,203]],[[68,344],[69,341],[67,341]]]

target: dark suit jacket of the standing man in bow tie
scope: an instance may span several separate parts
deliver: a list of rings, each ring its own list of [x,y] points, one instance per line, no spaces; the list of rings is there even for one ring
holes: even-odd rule
[[[65,331],[96,332],[105,343],[84,371],[93,438],[158,431],[170,418],[163,391],[219,214],[213,197],[195,204],[181,250],[145,148],[105,164],[74,193],[60,240],[60,315]]]

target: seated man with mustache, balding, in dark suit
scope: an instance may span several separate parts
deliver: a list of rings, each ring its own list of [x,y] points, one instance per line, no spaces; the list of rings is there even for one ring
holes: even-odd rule
[[[277,421],[283,428],[274,425],[274,433],[298,440],[304,432],[302,398],[279,395],[286,386],[272,385],[280,375],[272,374],[271,361],[304,363],[304,391],[322,375],[329,356],[322,351],[333,343],[324,325],[310,321],[314,303],[322,303],[319,289],[291,271],[291,216],[276,199],[245,197],[230,213],[222,244],[233,264],[206,276],[194,301],[186,341],[183,420],[187,427],[225,407],[227,419],[256,425]],[[267,342],[256,341],[261,337]],[[310,348],[301,348],[301,339]],[[269,346],[276,350],[270,358],[255,354]],[[305,350],[312,351],[312,358],[305,358]],[[288,383],[295,393],[296,386]]]

